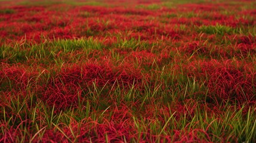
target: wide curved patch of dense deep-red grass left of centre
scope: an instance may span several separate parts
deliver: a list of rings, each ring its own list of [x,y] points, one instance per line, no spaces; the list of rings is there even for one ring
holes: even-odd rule
[[[112,88],[135,88],[141,86],[142,76],[131,66],[111,67],[108,64],[100,66],[98,64],[84,64],[82,66],[72,66],[63,68],[60,73],[45,85],[45,92],[42,100],[49,105],[55,105],[58,109],[65,109],[70,106],[77,107],[78,99],[87,98],[89,91],[107,86]]]

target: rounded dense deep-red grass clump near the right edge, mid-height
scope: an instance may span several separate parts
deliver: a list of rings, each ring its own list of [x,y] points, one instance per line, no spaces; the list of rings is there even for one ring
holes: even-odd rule
[[[234,68],[218,67],[209,74],[207,86],[210,94],[220,98],[217,100],[245,102],[253,96],[251,83]]]

